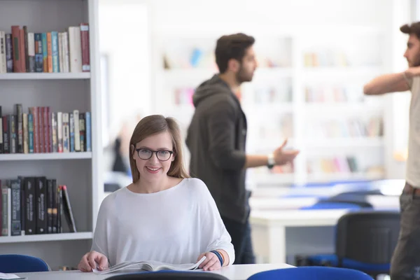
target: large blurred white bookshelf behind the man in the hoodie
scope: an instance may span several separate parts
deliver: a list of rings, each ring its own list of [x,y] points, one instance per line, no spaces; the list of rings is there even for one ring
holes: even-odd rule
[[[264,29],[241,31],[255,36],[259,62],[253,81],[239,93],[248,120],[247,151],[269,153],[286,137],[289,148],[301,151],[293,167],[248,169],[248,185],[384,179],[389,143],[385,102],[363,96],[363,84],[386,72],[389,56],[381,48],[386,32],[358,26],[290,27],[269,35]],[[194,112],[193,89],[217,72],[210,50],[218,34],[203,38],[179,32],[162,31],[156,40],[155,64],[164,67],[156,73],[155,111],[179,120],[186,135]],[[363,43],[351,43],[355,41]],[[347,158],[356,162],[351,171],[337,163]],[[311,170],[314,162],[320,166],[316,171]]]

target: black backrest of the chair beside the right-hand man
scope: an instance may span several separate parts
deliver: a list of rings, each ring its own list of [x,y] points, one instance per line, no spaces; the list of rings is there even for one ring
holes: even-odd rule
[[[397,211],[358,211],[337,222],[335,250],[343,258],[370,264],[387,264],[400,232]]]

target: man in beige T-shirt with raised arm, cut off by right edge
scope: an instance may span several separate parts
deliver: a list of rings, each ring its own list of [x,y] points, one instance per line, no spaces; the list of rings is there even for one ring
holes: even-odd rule
[[[391,280],[420,279],[420,22],[400,27],[409,35],[404,57],[408,69],[374,78],[365,94],[412,92],[405,187],[400,196],[400,237],[391,260]]]

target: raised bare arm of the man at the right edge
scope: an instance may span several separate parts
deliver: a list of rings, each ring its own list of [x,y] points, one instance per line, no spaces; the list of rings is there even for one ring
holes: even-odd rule
[[[409,90],[410,78],[405,72],[381,75],[367,83],[363,87],[363,92],[367,95],[405,92]]]

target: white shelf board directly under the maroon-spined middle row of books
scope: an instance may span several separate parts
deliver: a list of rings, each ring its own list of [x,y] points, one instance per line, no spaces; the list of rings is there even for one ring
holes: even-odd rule
[[[12,153],[1,154],[0,161],[9,160],[80,160],[92,158],[92,152],[82,153]]]

